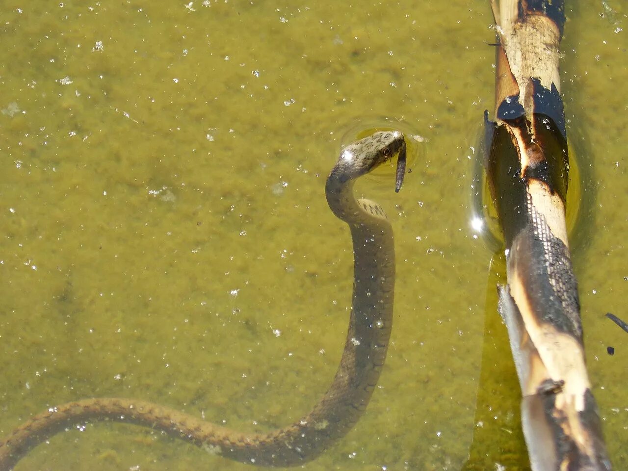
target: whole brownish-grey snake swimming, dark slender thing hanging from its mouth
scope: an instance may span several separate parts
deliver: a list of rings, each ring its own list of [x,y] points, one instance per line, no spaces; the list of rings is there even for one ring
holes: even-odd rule
[[[38,444],[90,421],[133,423],[200,446],[212,455],[259,466],[295,466],[317,458],[359,420],[379,380],[393,325],[393,230],[376,202],[357,199],[354,183],[395,156],[395,191],[403,182],[406,141],[377,131],[342,148],[325,184],[333,214],[350,228],[354,284],[349,329],[340,365],[310,413],[284,428],[242,433],[151,402],[100,397],[48,408],[0,441],[0,470],[11,470]]]

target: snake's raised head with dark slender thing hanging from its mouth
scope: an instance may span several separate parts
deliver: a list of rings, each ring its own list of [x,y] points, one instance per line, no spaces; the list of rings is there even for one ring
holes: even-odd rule
[[[377,131],[348,145],[340,152],[338,166],[355,179],[372,172],[395,155],[399,155],[395,179],[395,191],[398,192],[406,172],[406,141],[399,131]]]

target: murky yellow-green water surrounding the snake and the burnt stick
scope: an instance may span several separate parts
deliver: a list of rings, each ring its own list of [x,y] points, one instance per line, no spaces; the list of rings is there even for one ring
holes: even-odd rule
[[[427,140],[400,194],[392,177],[360,186],[396,232],[393,344],[362,420],[304,468],[528,469],[496,313],[503,262],[489,272],[469,224],[470,147],[493,106],[489,2],[207,4],[3,4],[0,435],[94,396],[246,430],[308,411],[352,285],[325,176],[345,130],[385,115]],[[617,469],[628,335],[604,314],[628,318],[626,13],[570,6],[562,64],[586,189],[573,248],[588,365]],[[96,424],[16,470],[202,467],[250,469]]]

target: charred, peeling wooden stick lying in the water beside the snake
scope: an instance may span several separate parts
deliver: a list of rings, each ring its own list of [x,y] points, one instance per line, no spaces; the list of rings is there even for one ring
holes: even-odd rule
[[[492,0],[497,38],[487,174],[504,231],[499,287],[533,471],[607,471],[585,365],[565,224],[568,151],[558,75],[561,0]]]

